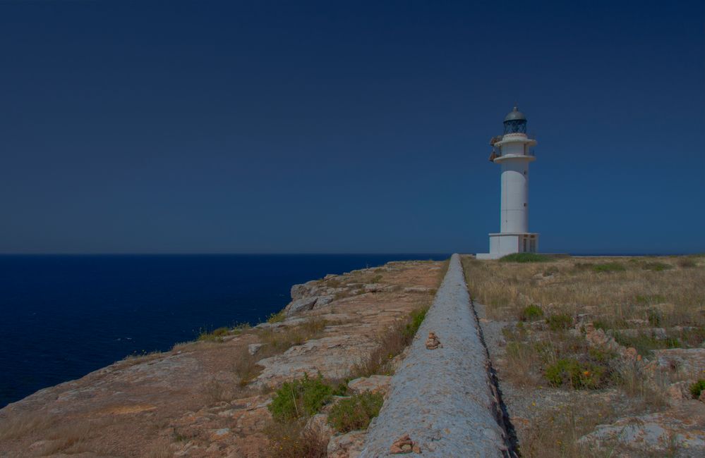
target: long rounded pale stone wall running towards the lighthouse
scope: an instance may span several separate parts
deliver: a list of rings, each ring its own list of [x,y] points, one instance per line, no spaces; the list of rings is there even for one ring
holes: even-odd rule
[[[408,451],[423,457],[515,456],[457,254],[360,456]]]

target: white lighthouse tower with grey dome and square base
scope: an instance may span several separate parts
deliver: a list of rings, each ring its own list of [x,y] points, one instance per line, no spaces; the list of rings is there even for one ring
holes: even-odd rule
[[[526,116],[516,106],[504,125],[504,135],[490,140],[490,161],[502,166],[500,232],[490,234],[490,252],[477,259],[538,251],[538,234],[529,232],[529,162],[536,161],[531,151],[536,140],[526,137]]]

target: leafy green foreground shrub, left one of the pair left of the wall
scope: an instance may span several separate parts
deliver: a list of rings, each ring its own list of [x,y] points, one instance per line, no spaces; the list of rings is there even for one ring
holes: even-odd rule
[[[310,378],[308,373],[303,378],[284,382],[272,397],[267,409],[277,421],[313,416],[330,400],[333,388],[324,383],[323,376]]]

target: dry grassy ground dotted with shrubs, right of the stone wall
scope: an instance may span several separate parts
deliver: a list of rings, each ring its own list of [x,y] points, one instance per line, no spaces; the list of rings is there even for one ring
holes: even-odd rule
[[[504,323],[493,354],[502,389],[544,400],[508,406],[528,419],[517,428],[522,456],[617,456],[579,439],[597,424],[664,411],[670,386],[705,378],[705,368],[649,364],[662,349],[703,347],[705,256],[463,262],[474,302]]]

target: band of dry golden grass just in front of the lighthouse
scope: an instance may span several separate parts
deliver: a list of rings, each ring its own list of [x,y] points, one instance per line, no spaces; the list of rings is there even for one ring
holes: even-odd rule
[[[589,311],[614,321],[648,320],[659,309],[662,327],[703,326],[705,268],[702,261],[681,267],[682,259],[568,258],[518,264],[466,257],[463,263],[471,295],[487,306],[490,318],[514,319],[524,307],[538,304],[549,311]],[[607,264],[624,270],[596,271]],[[662,264],[668,267],[653,270]]]

